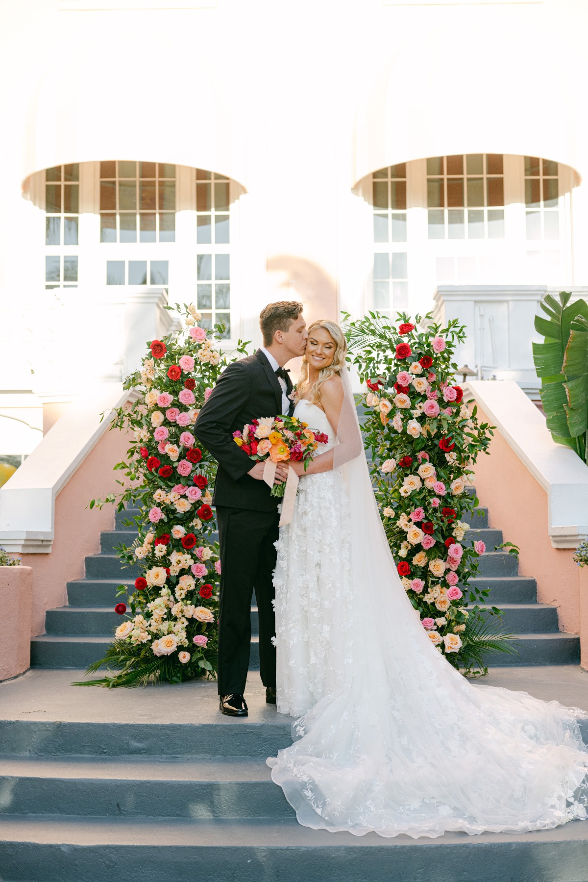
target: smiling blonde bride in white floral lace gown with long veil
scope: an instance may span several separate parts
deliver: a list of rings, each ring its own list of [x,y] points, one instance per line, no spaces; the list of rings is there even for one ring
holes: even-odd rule
[[[584,715],[469,683],[406,596],[369,481],[339,325],[309,327],[294,415],[329,435],[280,531],[277,703],[268,759],[299,822],[412,837],[542,830],[586,817]]]

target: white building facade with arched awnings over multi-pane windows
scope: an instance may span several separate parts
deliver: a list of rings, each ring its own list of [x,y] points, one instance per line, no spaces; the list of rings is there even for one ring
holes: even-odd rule
[[[162,290],[229,348],[284,297],[435,308],[480,376],[536,385],[541,294],[588,285],[587,4],[0,11],[0,459],[134,366]]]

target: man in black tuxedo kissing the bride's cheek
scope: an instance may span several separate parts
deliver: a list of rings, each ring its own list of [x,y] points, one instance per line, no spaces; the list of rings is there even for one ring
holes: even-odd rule
[[[279,499],[264,482],[264,463],[234,444],[233,432],[260,416],[288,415],[292,382],[284,365],[303,355],[309,334],[302,305],[268,303],[259,316],[264,345],[222,372],[198,415],[195,433],[219,462],[214,497],[220,541],[218,684],[220,711],[247,716],[243,698],[249,669],[251,598],[259,610],[259,672],[265,700],[276,703],[276,650],[272,583],[276,565]],[[287,477],[279,464],[275,482]]]

